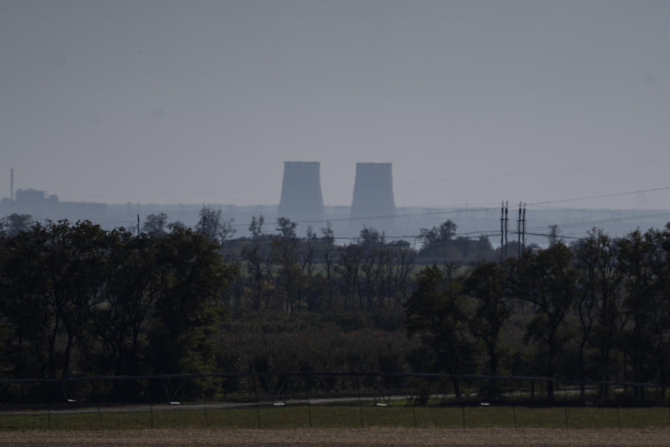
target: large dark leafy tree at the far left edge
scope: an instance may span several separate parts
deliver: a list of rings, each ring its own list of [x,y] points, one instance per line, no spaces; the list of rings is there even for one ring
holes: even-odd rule
[[[105,232],[89,221],[35,224],[6,249],[5,311],[14,315],[17,352],[31,350],[41,376],[69,376],[73,348],[87,342],[101,303]]]

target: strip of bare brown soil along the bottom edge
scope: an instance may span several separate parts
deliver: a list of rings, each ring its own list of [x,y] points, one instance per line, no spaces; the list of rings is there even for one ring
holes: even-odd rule
[[[668,446],[670,429],[299,429],[0,432],[2,446]]]

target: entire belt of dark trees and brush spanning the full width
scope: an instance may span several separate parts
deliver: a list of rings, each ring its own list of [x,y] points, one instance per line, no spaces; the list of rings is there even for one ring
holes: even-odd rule
[[[343,244],[328,225],[305,237],[289,219],[264,226],[253,218],[234,237],[206,207],[194,230],[154,214],[139,234],[2,219],[2,376],[379,370],[668,383],[670,226],[619,239],[594,229],[570,246],[553,237],[502,264],[451,221],[422,230],[418,251],[374,228]]]

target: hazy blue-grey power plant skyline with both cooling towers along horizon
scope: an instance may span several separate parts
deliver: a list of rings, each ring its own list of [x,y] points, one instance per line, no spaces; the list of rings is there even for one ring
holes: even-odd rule
[[[170,221],[181,221],[186,226],[198,225],[202,204],[198,203],[92,203],[61,201],[47,191],[19,188],[15,186],[15,172],[8,170],[8,197],[0,197],[0,219],[10,214],[29,214],[36,222],[45,219],[70,222],[89,220],[100,224],[105,230],[135,228],[137,216],[145,219],[149,214],[164,212]],[[334,235],[341,240],[359,237],[360,230],[367,226],[385,232],[389,237],[418,235],[422,228],[439,226],[446,219],[458,223],[464,233],[490,233],[491,223],[499,222],[500,208],[465,207],[398,207],[395,206],[391,163],[357,163],[354,193],[351,206],[325,206],[320,185],[320,163],[316,161],[287,161],[281,204],[232,205],[208,204],[221,210],[224,219],[234,219],[236,225],[245,226],[252,217],[265,217],[266,233],[273,231],[277,217],[288,217],[297,222],[297,233],[305,235],[308,225],[319,234],[321,228],[332,224]],[[0,178],[1,179],[1,178]],[[588,210],[552,209],[530,210],[528,220],[538,228],[575,221],[602,221],[604,232],[610,235],[626,235],[636,227],[663,228],[667,223],[667,210],[641,217],[639,210]],[[627,220],[630,217],[631,220]],[[510,219],[511,220],[511,219]],[[239,235],[244,236],[244,230]],[[416,240],[416,239],[415,239]],[[546,243],[546,237],[535,236],[530,242]],[[344,242],[342,242],[344,243]]]

